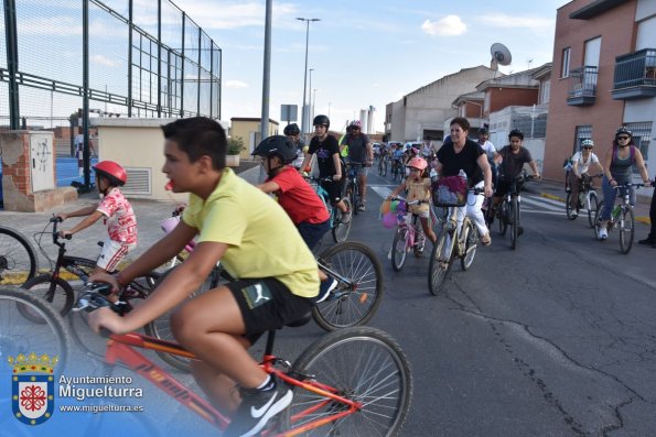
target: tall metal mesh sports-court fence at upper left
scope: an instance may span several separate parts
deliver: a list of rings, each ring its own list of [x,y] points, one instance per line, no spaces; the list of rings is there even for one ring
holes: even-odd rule
[[[84,134],[88,167],[89,117],[221,118],[222,50],[169,0],[3,0],[0,20],[0,129],[53,130],[58,154]]]

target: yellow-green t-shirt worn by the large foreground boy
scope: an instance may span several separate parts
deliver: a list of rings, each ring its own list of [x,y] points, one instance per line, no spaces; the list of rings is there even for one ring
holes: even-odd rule
[[[287,212],[230,168],[207,200],[190,195],[182,219],[198,242],[228,244],[221,261],[233,277],[276,277],[298,296],[319,294],[316,261]]]

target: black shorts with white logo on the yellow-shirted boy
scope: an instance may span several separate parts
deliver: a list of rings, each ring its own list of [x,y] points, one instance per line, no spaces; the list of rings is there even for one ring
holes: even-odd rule
[[[245,337],[255,343],[271,329],[297,321],[310,313],[312,301],[292,294],[273,277],[238,280],[226,284],[241,310]]]

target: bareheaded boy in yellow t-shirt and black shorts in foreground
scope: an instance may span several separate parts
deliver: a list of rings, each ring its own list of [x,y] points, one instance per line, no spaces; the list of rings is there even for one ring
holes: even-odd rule
[[[205,117],[162,127],[162,171],[174,193],[190,193],[181,222],[116,276],[94,275],[112,288],[150,272],[198,236],[193,252],[125,317],[109,308],[89,316],[96,331],[129,332],[171,317],[176,340],[198,360],[192,371],[218,408],[232,413],[224,436],[258,435],[292,401],[290,387],[265,372],[247,349],[264,332],[303,318],[318,295],[318,265],[284,210],[225,166],[224,129]],[[236,281],[185,301],[216,263]],[[239,386],[240,402],[233,391]]]

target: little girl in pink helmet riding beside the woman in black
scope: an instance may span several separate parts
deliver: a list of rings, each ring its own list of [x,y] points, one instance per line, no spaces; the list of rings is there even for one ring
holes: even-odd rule
[[[426,162],[426,160],[420,156],[415,156],[408,162],[408,170],[410,171],[410,175],[401,185],[399,185],[391,192],[387,199],[391,200],[392,197],[407,189],[407,201],[430,201],[431,181],[428,173],[428,163]],[[423,233],[434,244],[438,238],[435,237],[435,233],[433,232],[433,228],[431,226],[432,223],[430,218],[430,204],[422,203],[418,205],[410,205],[408,210],[419,216],[421,227],[423,228]]]

